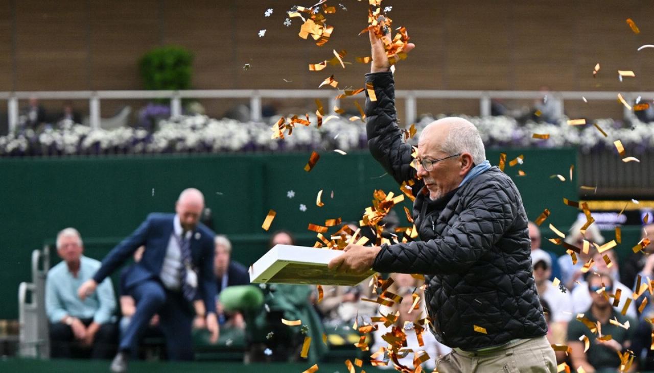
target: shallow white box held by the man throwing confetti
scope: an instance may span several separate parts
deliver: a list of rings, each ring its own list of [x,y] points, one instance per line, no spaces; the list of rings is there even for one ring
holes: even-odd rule
[[[369,270],[356,275],[328,270],[328,263],[342,253],[341,250],[275,245],[252,265],[250,282],[354,286],[376,273]]]

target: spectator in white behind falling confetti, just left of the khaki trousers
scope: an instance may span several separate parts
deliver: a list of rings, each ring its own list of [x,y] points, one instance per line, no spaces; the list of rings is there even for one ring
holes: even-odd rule
[[[413,323],[415,323],[421,318],[424,318],[425,313],[422,312],[423,295],[421,293],[419,293],[421,300],[419,300],[419,302],[417,303],[418,309],[415,310],[412,308],[414,290],[415,287],[402,287],[398,290],[399,291],[398,295],[402,297],[402,300],[400,304],[394,304],[393,306],[394,310],[392,310],[391,312],[400,310],[400,316],[398,317],[397,321],[393,325],[390,325],[390,327],[385,327],[383,323],[377,323],[379,329],[377,329],[374,332],[375,340],[371,352],[375,352],[379,350],[379,348],[381,347],[388,348],[388,342],[384,340],[382,337],[385,334],[392,333],[393,328],[400,328],[402,331],[404,331],[404,334],[406,335],[405,348],[412,349],[413,352],[417,352],[420,350],[426,351],[426,353],[428,353],[429,355],[429,359],[425,361],[423,365],[424,367],[432,370],[436,368],[436,360],[438,359],[438,357],[442,355],[447,355],[452,350],[451,348],[438,342],[434,337],[434,334],[430,332],[428,326],[425,326],[425,329],[421,333],[422,341],[424,342],[424,345],[423,346],[419,345],[417,334],[415,332],[415,325]],[[407,368],[413,369],[415,368],[413,366],[414,356],[415,356],[414,353],[409,352],[401,359],[398,359],[398,362],[406,366]],[[382,358],[378,357],[377,359],[381,360]],[[388,365],[379,366],[379,368],[386,368],[386,369],[390,369],[392,367],[393,367],[393,362],[391,360],[388,361]]]

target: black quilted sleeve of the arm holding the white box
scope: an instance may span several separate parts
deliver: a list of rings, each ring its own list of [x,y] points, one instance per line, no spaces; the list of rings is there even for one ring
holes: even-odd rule
[[[379,272],[454,274],[467,272],[513,225],[517,201],[495,183],[479,189],[446,236],[385,245],[375,258]]]

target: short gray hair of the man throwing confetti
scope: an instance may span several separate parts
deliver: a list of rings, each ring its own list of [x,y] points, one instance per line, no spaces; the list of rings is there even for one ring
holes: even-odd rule
[[[420,134],[419,141],[424,140],[424,133],[429,127],[435,125],[448,125],[447,137],[441,145],[441,150],[449,155],[470,153],[475,165],[481,165],[486,161],[486,149],[479,135],[477,127],[464,118],[448,117],[429,123]]]

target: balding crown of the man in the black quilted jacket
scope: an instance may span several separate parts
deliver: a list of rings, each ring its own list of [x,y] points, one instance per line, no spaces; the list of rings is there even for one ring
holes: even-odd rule
[[[472,156],[475,165],[486,160],[486,150],[477,127],[464,118],[447,117],[429,123],[420,134],[418,146],[445,154]]]

